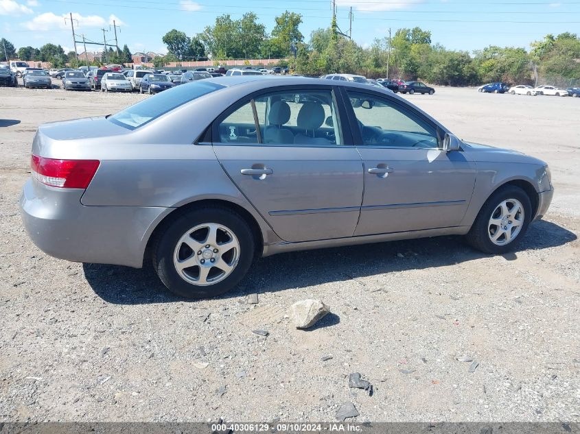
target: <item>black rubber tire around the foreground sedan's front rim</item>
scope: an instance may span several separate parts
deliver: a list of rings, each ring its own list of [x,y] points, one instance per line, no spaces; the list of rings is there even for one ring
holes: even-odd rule
[[[491,214],[494,213],[494,210],[498,207],[498,204],[508,199],[516,199],[521,202],[524,207],[524,223],[522,224],[520,232],[510,243],[506,245],[497,245],[489,239],[489,219],[491,218]],[[502,186],[500,189],[494,191],[481,207],[472,228],[465,236],[467,242],[472,245],[473,248],[484,253],[504,254],[511,252],[511,250],[518,246],[522,238],[524,238],[526,230],[528,230],[530,224],[531,213],[532,206],[530,198],[525,191],[514,185]]]

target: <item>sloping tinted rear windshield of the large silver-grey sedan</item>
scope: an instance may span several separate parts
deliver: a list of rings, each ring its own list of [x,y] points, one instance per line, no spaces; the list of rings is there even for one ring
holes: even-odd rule
[[[165,92],[159,93],[155,97],[143,99],[134,106],[130,106],[125,110],[113,114],[108,117],[109,120],[121,125],[121,127],[130,128],[134,130],[160,117],[162,114],[174,110],[183,104],[193,101],[207,93],[217,91],[223,88],[219,84],[209,82],[192,82],[191,84],[183,84],[174,88],[168,89]]]

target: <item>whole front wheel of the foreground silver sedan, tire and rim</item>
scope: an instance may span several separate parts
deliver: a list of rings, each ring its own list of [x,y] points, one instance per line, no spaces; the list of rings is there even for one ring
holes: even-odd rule
[[[467,241],[485,253],[513,250],[528,229],[532,207],[526,192],[508,185],[494,192],[481,208]]]

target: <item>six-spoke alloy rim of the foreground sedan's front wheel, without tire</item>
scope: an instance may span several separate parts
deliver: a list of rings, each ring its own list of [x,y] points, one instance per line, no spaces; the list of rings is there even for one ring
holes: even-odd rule
[[[502,201],[491,213],[487,235],[496,245],[507,245],[513,241],[524,225],[524,206],[517,199]]]

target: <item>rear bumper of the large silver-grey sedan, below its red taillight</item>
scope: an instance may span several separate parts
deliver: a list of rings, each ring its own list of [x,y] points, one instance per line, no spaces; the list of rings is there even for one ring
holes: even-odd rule
[[[83,193],[27,180],[20,209],[34,244],[67,261],[142,267],[153,228],[172,208],[83,206]]]

